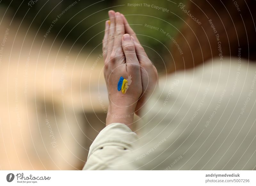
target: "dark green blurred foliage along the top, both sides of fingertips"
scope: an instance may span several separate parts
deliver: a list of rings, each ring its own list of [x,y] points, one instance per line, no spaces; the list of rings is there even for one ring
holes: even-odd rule
[[[76,4],[67,10],[67,7],[74,2]],[[80,48],[84,46],[87,51],[95,48],[93,52],[101,50],[100,43],[104,34],[104,23],[108,19],[108,11],[121,12],[138,35],[141,44],[145,45],[150,59],[156,61],[169,53],[167,49],[170,50],[171,45],[170,39],[160,32],[160,29],[175,37],[183,23],[184,13],[178,8],[180,2],[184,3],[185,0],[3,0],[0,5],[5,9],[8,7],[7,13],[14,19],[23,19],[23,26],[25,24],[28,27],[31,24],[31,29],[39,31],[39,37],[43,37],[52,21],[64,12],[46,39],[56,37],[66,46],[74,45]],[[141,6],[128,4],[141,4]],[[162,9],[157,10],[154,5]],[[165,11],[162,11],[163,9]],[[145,27],[145,24],[157,27],[158,30]],[[156,63],[155,65],[157,66]]]

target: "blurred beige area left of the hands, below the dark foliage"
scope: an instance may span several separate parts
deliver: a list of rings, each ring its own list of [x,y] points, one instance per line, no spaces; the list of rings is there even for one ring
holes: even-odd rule
[[[82,169],[108,106],[102,59],[92,70],[99,54],[11,20],[0,27],[0,169]]]

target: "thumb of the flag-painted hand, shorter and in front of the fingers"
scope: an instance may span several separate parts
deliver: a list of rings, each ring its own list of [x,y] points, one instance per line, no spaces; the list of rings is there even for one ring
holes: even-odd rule
[[[127,68],[130,65],[140,67],[140,63],[138,61],[138,58],[137,58],[136,52],[135,52],[135,46],[134,46],[134,43],[132,42],[132,38],[129,34],[123,35],[122,48],[124,51]]]

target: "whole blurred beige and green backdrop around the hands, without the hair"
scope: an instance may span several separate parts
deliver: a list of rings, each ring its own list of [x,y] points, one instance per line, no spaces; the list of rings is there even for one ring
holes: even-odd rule
[[[166,73],[170,38],[160,28],[175,37],[184,14],[175,1],[146,2],[168,12],[127,5],[133,3],[145,2],[0,1],[1,170],[82,169],[105,126],[100,54],[109,10],[126,16],[159,73]]]

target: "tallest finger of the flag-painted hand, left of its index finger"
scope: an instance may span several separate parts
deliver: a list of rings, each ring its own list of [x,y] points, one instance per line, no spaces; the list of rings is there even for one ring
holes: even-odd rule
[[[113,10],[108,11],[108,16],[110,19],[110,27],[108,32],[108,57],[110,56],[114,44],[116,21],[115,12]]]

